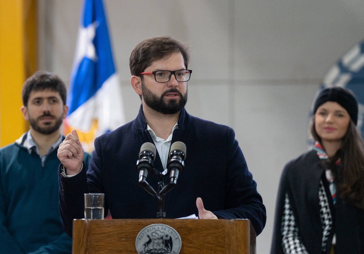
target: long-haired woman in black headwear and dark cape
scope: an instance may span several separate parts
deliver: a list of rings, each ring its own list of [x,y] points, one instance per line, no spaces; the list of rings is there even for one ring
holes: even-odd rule
[[[347,89],[322,90],[313,107],[311,151],[283,169],[271,254],[364,253],[364,143]]]

